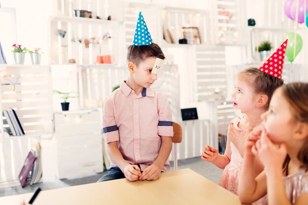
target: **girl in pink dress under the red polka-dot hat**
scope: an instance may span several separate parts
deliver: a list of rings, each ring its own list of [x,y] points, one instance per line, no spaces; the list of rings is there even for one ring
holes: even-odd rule
[[[235,91],[232,94],[234,109],[240,109],[244,117],[234,118],[228,127],[227,145],[223,155],[218,154],[214,147],[206,145],[201,159],[212,162],[224,169],[219,185],[238,194],[238,178],[244,155],[245,133],[248,128],[260,129],[261,114],[269,106],[269,102],[277,87],[283,85],[283,80],[262,72],[258,68],[247,68],[237,75]],[[256,160],[256,175],[263,171],[263,166]],[[266,204],[266,199],[257,202]]]

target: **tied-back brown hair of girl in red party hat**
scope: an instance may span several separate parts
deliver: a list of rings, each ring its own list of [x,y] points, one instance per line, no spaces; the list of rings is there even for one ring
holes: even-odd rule
[[[256,94],[265,94],[268,101],[264,107],[269,108],[271,98],[276,88],[282,86],[283,80],[262,72],[256,67],[249,67],[238,74],[239,80],[244,80]]]

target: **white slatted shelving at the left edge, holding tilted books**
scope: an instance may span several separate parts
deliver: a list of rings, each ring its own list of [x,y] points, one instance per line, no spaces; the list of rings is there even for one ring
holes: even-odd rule
[[[13,108],[25,131],[24,136],[4,135],[0,120],[0,188],[19,184],[18,175],[31,147],[51,136],[52,91],[49,66],[0,66],[0,111]],[[6,120],[5,120],[6,121]],[[12,127],[10,127],[12,129]]]

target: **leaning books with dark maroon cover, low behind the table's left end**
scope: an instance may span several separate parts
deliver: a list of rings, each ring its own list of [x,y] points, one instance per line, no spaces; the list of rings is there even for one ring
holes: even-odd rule
[[[36,145],[29,151],[18,179],[20,181],[20,185],[24,187],[26,184],[32,185],[39,182],[41,177],[41,146],[39,143],[36,143]]]

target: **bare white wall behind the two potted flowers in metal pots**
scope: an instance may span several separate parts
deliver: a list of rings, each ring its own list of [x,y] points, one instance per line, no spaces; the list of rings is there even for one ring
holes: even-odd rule
[[[46,55],[42,56],[41,64],[48,64],[49,50],[49,16],[52,15],[52,0],[1,0],[1,7],[16,8],[17,42],[27,49],[42,48]],[[3,32],[1,28],[1,32]],[[9,35],[14,33],[7,32]],[[6,39],[0,39],[5,41]],[[7,50],[8,49],[8,50]],[[4,54],[8,64],[13,64],[12,49],[7,48]],[[26,64],[31,64],[30,55],[25,58]]]

